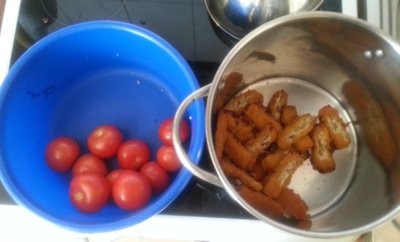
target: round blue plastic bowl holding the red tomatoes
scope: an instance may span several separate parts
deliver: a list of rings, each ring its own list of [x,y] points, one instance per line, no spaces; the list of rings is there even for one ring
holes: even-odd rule
[[[1,86],[1,181],[18,204],[71,230],[101,232],[137,224],[173,202],[191,174],[182,169],[141,210],[124,211],[110,203],[98,213],[84,214],[69,201],[71,175],[46,165],[46,145],[57,136],[70,136],[85,152],[89,133],[113,124],[125,139],[145,140],[155,159],[160,123],[198,88],[181,55],[141,27],[95,21],[55,32],[25,52]],[[202,102],[187,112],[192,130],[187,149],[195,163],[204,146],[204,113]]]

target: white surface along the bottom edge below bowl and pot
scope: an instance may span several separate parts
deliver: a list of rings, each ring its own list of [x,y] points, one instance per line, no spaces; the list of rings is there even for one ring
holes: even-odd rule
[[[283,232],[258,220],[171,215],[156,215],[113,232],[82,234],[51,224],[16,205],[0,205],[0,214],[0,241],[3,242],[353,242],[358,237],[310,239]]]

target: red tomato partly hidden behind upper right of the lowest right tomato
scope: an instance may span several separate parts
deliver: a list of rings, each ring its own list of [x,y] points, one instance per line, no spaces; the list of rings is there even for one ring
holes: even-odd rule
[[[154,194],[163,192],[170,183],[168,172],[156,162],[147,162],[140,169],[140,173],[149,178]]]

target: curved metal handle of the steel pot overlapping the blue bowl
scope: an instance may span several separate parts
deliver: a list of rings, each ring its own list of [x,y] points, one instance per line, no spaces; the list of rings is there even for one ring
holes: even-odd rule
[[[189,158],[189,156],[186,154],[186,151],[184,150],[182,143],[179,140],[179,124],[182,120],[183,114],[185,113],[186,109],[189,107],[189,105],[196,101],[199,98],[204,98],[208,95],[208,92],[210,90],[211,84],[208,84],[197,91],[191,93],[189,96],[183,100],[183,102],[179,105],[173,125],[172,125],[172,143],[174,144],[174,148],[176,151],[176,154],[181,161],[182,165],[189,170],[193,175],[196,177],[211,183],[213,185],[223,187],[221,181],[219,180],[218,176],[216,176],[213,173],[210,173],[208,171],[205,171],[201,168],[199,168],[197,165],[195,165]]]

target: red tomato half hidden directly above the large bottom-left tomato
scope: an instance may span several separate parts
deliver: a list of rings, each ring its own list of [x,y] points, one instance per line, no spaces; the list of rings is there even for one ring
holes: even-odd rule
[[[84,154],[78,158],[72,166],[72,175],[76,176],[79,173],[94,171],[102,176],[106,176],[108,168],[105,162],[97,156],[92,154]]]

